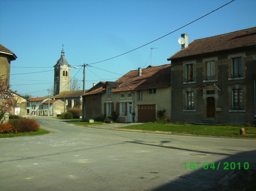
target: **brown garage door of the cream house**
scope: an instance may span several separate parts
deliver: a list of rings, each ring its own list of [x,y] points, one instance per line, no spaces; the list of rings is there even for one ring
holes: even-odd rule
[[[156,118],[156,105],[138,105],[138,122],[153,122]]]

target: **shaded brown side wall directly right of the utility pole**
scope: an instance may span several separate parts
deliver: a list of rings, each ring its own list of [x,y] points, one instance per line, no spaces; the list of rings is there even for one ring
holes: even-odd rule
[[[101,94],[92,94],[85,97],[86,121],[101,115]]]

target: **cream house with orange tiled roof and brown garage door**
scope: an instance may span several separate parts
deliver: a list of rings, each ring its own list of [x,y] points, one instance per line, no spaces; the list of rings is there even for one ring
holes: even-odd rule
[[[153,122],[156,111],[165,109],[170,119],[171,65],[138,68],[123,75],[115,82],[106,82],[102,94],[102,114],[113,111],[122,123]]]

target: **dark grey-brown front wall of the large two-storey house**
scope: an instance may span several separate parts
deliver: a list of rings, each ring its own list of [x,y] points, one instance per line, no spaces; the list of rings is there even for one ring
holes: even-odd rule
[[[232,75],[232,58],[242,57],[243,76],[237,78]],[[186,64],[191,60],[194,63],[194,81],[184,82],[186,78]],[[206,80],[207,61],[215,61],[216,79]],[[207,116],[207,98],[215,98],[215,119],[225,121],[227,124],[245,123],[249,116],[254,115],[254,79],[256,71],[256,48],[255,46],[243,49],[221,51],[199,56],[191,56],[171,61],[172,73],[172,108],[171,120],[182,121],[188,119],[188,123],[197,123]],[[221,91],[196,91],[207,84],[215,84]],[[232,109],[232,88],[242,89],[244,109]],[[184,109],[186,104],[186,92],[194,92],[194,109]],[[221,108],[217,111],[216,108]],[[252,124],[252,122],[251,122]]]

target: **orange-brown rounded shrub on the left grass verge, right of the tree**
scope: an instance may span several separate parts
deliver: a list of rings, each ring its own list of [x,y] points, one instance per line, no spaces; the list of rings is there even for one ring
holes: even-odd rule
[[[16,133],[25,133],[31,131],[37,131],[40,126],[34,119],[21,118],[20,120],[12,120],[10,122],[11,125],[14,126]]]

